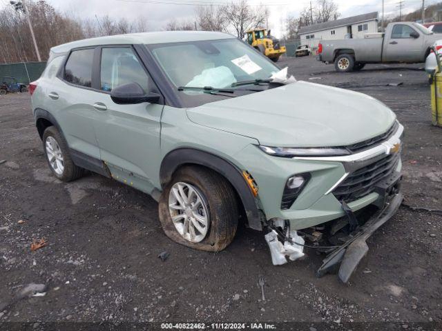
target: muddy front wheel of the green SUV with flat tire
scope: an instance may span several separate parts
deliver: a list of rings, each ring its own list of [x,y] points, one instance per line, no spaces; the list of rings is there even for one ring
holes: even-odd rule
[[[200,166],[177,170],[158,206],[166,236],[196,250],[218,252],[238,226],[238,203],[230,183]]]

